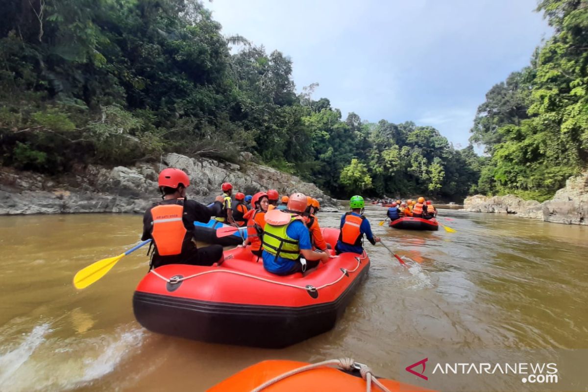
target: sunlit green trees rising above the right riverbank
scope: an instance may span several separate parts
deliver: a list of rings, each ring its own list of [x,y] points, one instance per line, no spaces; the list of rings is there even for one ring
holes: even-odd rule
[[[479,190],[544,200],[588,162],[588,1],[543,0],[555,29],[531,64],[486,94],[472,142],[491,159]]]

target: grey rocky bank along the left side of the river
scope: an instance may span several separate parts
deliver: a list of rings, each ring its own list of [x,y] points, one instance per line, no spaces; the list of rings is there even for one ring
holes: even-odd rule
[[[170,153],[160,163],[138,163],[132,167],[75,167],[58,177],[0,168],[0,215],[45,213],[132,212],[142,213],[160,200],[158,173],[165,167],[178,167],[188,173],[188,197],[212,202],[220,184],[230,182],[235,189],[253,194],[276,189],[280,195],[302,192],[312,195],[322,206],[338,207],[335,199],[316,185],[268,166],[223,163],[206,158],[189,158]]]

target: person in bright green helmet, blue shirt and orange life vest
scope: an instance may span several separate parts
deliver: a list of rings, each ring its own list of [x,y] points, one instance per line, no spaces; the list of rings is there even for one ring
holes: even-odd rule
[[[363,254],[363,234],[366,234],[366,238],[372,245],[380,242],[380,237],[373,236],[369,220],[362,215],[363,207],[365,207],[363,197],[353,196],[349,200],[349,207],[351,207],[351,212],[345,213],[341,217],[341,232],[335,245],[335,251],[337,254],[343,252]]]

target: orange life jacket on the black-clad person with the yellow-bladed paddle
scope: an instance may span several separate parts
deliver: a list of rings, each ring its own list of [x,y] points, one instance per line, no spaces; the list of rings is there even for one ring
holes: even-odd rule
[[[182,216],[183,199],[178,199],[177,204],[163,204],[151,209],[151,237],[159,256],[182,253],[182,244],[188,232]]]

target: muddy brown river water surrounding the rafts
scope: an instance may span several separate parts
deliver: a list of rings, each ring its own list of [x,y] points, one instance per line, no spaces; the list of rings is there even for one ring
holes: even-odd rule
[[[139,215],[0,217],[0,390],[201,391],[263,359],[341,356],[402,378],[410,349],[588,348],[588,227],[441,210],[456,233],[409,232],[378,226],[385,211],[366,216],[410,267],[366,242],[368,279],[335,329],[283,350],[142,329],[131,300],[145,248],[75,290],[77,270],[138,242]]]

